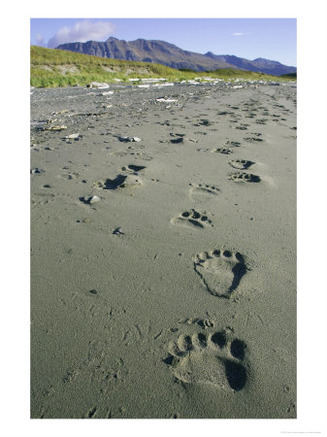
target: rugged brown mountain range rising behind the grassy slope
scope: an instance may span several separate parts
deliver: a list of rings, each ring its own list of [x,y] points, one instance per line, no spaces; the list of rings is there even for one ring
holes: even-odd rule
[[[176,69],[194,71],[212,71],[220,68],[232,68],[261,72],[281,76],[295,73],[295,67],[289,67],[277,61],[257,58],[253,61],[231,55],[215,55],[183,50],[174,44],[158,40],[137,39],[124,41],[110,37],[107,41],[88,41],[61,44],[59,50],[68,50],[102,58],[121,59],[126,61],[154,62]]]

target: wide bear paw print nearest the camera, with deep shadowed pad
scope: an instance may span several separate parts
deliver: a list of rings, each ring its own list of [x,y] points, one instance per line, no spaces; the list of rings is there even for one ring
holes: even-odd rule
[[[184,383],[213,384],[221,389],[242,390],[247,382],[246,344],[229,338],[225,330],[180,335],[169,346],[164,362]]]

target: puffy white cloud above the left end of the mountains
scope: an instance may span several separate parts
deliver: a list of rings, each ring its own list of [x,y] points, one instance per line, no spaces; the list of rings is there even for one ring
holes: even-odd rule
[[[86,42],[86,41],[104,41],[109,35],[112,35],[114,26],[106,21],[89,21],[83,20],[74,24],[74,26],[62,27],[55,35],[49,39],[48,47],[55,48],[59,44],[69,42]]]

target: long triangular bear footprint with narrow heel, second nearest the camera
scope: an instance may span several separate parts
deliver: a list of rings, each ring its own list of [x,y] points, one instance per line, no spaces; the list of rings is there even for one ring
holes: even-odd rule
[[[194,270],[209,293],[224,298],[230,298],[248,270],[243,255],[229,250],[202,252],[193,261]]]

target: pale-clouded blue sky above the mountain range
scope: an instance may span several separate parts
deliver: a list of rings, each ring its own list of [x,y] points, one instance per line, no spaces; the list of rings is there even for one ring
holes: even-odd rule
[[[31,44],[158,39],[197,53],[266,58],[296,66],[295,18],[31,18]]]

